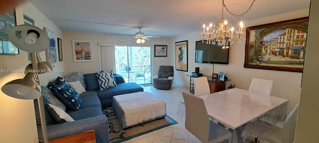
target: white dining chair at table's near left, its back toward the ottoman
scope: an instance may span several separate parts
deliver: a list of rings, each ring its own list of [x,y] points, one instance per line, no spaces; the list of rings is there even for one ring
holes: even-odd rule
[[[203,98],[182,92],[185,102],[185,128],[203,143],[229,140],[231,132],[208,120]]]

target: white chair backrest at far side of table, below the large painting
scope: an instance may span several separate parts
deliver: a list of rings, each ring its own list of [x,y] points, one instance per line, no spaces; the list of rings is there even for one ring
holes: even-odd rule
[[[273,80],[253,78],[250,83],[249,91],[270,96],[273,88],[273,82]]]

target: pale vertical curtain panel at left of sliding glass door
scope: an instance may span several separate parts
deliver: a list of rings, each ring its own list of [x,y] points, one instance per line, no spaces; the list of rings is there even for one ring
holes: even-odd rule
[[[114,46],[100,46],[101,68],[103,71],[115,71]]]

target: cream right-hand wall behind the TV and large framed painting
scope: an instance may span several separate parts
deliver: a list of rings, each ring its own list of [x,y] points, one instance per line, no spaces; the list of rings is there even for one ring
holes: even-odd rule
[[[249,27],[294,18],[306,17],[308,15],[309,9],[304,9],[271,17],[255,19],[253,21],[245,21],[245,19],[243,19],[243,21],[246,24],[245,26]],[[175,71],[175,76],[173,80],[174,84],[189,87],[189,76],[186,76],[186,74],[191,74],[191,72],[195,71],[195,67],[199,67],[200,72],[205,75],[212,75],[213,73],[212,64],[198,64],[194,62],[195,41],[201,40],[200,30],[201,27],[198,26],[198,32],[172,38],[170,47],[173,47],[175,42],[188,40],[188,72]],[[245,41],[246,39],[243,39],[241,43],[234,42],[234,44],[230,47],[229,50],[229,64],[214,64],[214,73],[219,73],[220,71],[226,72],[226,76],[229,79],[231,79],[231,81],[226,81],[226,87],[230,83],[232,83],[235,84],[237,88],[247,90],[253,77],[274,80],[272,95],[289,99],[291,106],[295,107],[295,105],[299,102],[300,99],[302,73],[244,68]],[[174,53],[173,49],[170,49],[169,51],[169,53],[171,54]],[[171,57],[173,56],[174,55],[171,55]],[[172,62],[172,64],[175,65],[174,59],[170,59],[170,62]]]

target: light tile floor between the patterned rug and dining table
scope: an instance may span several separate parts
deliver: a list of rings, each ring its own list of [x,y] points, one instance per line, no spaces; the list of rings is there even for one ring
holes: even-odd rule
[[[180,100],[183,99],[181,92],[189,92],[188,88],[177,85],[173,85],[170,90],[160,90],[153,86],[143,88],[144,91],[150,92],[166,102],[167,115],[176,120],[178,124],[162,128],[123,143],[201,143],[185,129],[185,119],[180,118],[180,116],[178,118],[177,116]]]

